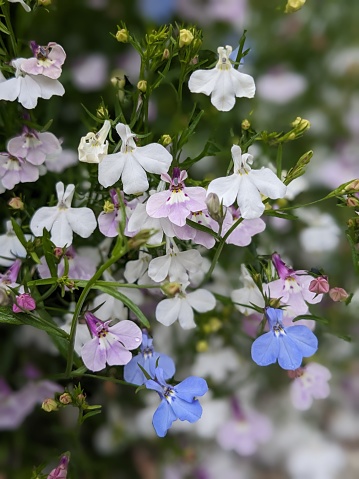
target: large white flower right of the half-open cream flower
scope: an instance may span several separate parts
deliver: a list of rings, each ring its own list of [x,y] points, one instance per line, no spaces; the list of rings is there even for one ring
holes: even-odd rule
[[[149,188],[146,172],[167,173],[172,155],[158,143],[137,147],[136,135],[128,125],[118,123],[116,131],[122,140],[121,150],[103,158],[98,168],[98,181],[107,188],[121,178],[125,193],[143,193]]]

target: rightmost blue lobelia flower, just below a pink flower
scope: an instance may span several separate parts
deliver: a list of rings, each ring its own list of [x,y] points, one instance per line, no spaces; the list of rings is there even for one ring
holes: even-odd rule
[[[266,308],[270,331],[252,344],[252,359],[259,366],[268,366],[278,360],[283,369],[297,369],[303,357],[312,356],[318,349],[318,339],[306,326],[289,326],[282,322],[281,309]]]

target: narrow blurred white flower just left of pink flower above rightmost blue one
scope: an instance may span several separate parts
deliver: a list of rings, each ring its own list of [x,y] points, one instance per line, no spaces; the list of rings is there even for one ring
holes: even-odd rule
[[[259,308],[264,308],[264,299],[258,286],[253,281],[247,268],[241,265],[240,279],[243,283],[243,288],[235,289],[231,293],[231,299],[235,307],[245,315],[252,314],[255,310],[251,307],[252,304]]]

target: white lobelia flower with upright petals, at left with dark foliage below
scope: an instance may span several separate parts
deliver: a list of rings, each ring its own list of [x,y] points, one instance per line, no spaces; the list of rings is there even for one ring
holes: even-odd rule
[[[62,181],[56,183],[57,206],[44,206],[37,210],[30,221],[35,236],[42,236],[43,229],[51,231],[51,241],[63,248],[72,244],[73,232],[88,238],[97,226],[96,217],[90,208],[71,208],[75,185]]]

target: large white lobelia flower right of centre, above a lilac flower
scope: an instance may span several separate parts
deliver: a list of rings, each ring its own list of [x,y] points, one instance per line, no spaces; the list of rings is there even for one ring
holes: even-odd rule
[[[252,170],[253,156],[242,155],[240,146],[233,145],[234,172],[230,176],[216,178],[208,185],[207,195],[216,193],[224,206],[231,206],[236,198],[244,219],[259,218],[264,211],[261,194],[271,199],[283,198],[287,187],[269,168]]]

